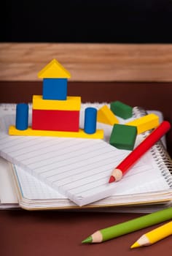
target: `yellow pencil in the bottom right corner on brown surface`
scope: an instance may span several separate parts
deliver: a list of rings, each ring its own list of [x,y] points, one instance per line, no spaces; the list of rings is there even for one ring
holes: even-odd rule
[[[130,248],[136,248],[141,246],[148,246],[151,244],[155,244],[157,241],[172,235],[172,221],[167,224],[155,228],[143,236],[141,236],[136,243],[134,243]]]

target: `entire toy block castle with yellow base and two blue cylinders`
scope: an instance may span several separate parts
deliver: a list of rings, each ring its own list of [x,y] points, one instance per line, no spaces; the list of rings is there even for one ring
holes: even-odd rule
[[[19,104],[16,124],[9,127],[9,135],[34,135],[74,138],[103,138],[103,130],[96,129],[96,111],[87,109],[85,129],[79,129],[81,97],[67,96],[70,73],[55,59],[38,74],[43,79],[42,95],[32,100],[32,124],[28,127],[28,105]]]

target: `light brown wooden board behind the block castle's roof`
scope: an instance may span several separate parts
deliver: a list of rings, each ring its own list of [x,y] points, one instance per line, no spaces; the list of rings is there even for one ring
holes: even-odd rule
[[[40,80],[57,59],[71,81],[172,81],[172,44],[1,43],[0,80]]]

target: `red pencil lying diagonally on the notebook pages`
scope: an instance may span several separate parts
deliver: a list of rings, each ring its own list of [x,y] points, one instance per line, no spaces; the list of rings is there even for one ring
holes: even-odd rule
[[[120,181],[123,174],[141,157],[149,148],[151,148],[163,135],[171,128],[168,121],[163,121],[156,129],[153,130],[129,155],[125,157],[120,165],[114,168],[109,178],[109,183]]]

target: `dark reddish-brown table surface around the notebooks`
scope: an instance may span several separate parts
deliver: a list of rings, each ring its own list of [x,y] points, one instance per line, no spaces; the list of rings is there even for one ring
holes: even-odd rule
[[[160,110],[172,123],[172,83],[69,83],[68,95],[82,97],[82,102],[112,102]],[[0,82],[0,102],[31,102],[33,94],[42,94],[39,82]],[[167,135],[172,155],[172,133]],[[109,227],[144,214],[70,212],[70,211],[0,211],[0,255],[171,255],[171,237],[152,246],[130,249],[147,227],[102,244],[81,244],[95,230]],[[159,225],[155,225],[157,227]]]

